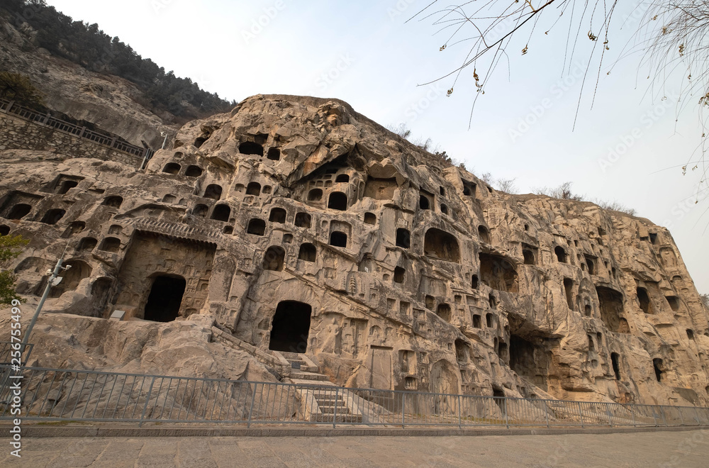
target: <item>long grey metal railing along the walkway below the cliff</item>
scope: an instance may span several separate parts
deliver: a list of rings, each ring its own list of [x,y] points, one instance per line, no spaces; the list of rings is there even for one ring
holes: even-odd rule
[[[327,384],[169,377],[0,366],[23,375],[26,420],[389,426],[709,425],[709,408],[593,403],[419,391],[347,389]],[[11,419],[0,379],[0,420]],[[16,381],[16,379],[12,379]]]

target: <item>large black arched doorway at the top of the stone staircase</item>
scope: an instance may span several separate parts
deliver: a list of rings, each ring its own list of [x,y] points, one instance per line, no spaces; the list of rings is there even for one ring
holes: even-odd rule
[[[280,302],[273,317],[269,350],[306,352],[312,311],[303,302]]]

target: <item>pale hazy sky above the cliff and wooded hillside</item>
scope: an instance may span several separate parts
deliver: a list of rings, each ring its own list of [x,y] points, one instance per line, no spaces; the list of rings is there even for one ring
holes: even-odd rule
[[[583,94],[594,44],[585,37],[588,24],[581,26],[566,69],[568,23],[547,35],[551,23],[541,24],[526,55],[521,50],[528,35],[520,35],[476,104],[469,128],[472,70],[450,97],[451,79],[417,86],[450,72],[467,52],[465,43],[441,52],[447,35],[435,34],[430,21],[405,23],[430,0],[48,3],[74,19],[99,23],[143,57],[226,99],[336,97],[384,126],[406,123],[413,138],[431,138],[478,176],[515,179],[518,193],[569,181],[586,199],[617,200],[671,229],[700,293],[709,293],[709,202],[694,204],[697,174],[681,172],[696,160],[692,153],[700,143],[696,99],[689,98],[678,116],[681,77],[651,89],[639,55],[623,57],[607,74],[639,25],[630,10],[616,11],[623,28],[611,35],[600,73],[593,62]],[[549,21],[555,20],[550,13]],[[478,69],[481,78],[483,72]],[[611,155],[611,148],[620,151]]]

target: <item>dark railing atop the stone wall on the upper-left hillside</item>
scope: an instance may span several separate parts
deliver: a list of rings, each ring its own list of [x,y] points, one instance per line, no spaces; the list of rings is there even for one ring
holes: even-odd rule
[[[148,159],[150,159],[150,156],[152,155],[152,150],[149,148],[131,145],[130,143],[119,140],[118,137],[104,135],[102,133],[89,130],[86,127],[80,127],[74,125],[73,123],[62,121],[59,118],[50,116],[49,113],[40,113],[38,111],[34,111],[33,109],[19,106],[14,101],[0,99],[0,111],[12,113],[15,116],[25,119],[26,121],[40,123],[45,126],[52,127],[55,130],[59,130],[60,132],[69,133],[70,135],[74,135],[79,138],[85,138],[86,140],[91,140],[99,145],[108,146],[113,150],[125,152],[129,155],[147,157]]]

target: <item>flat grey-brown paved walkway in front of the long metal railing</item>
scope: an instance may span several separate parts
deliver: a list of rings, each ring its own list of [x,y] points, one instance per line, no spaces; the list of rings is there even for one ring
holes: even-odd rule
[[[1,444],[9,452],[9,443]],[[451,437],[27,438],[0,467],[709,467],[709,430]]]

